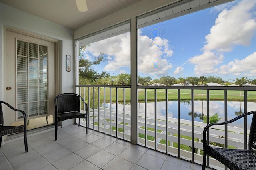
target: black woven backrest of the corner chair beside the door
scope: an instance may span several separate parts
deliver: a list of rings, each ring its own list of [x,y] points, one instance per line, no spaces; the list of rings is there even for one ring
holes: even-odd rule
[[[80,97],[74,93],[64,93],[55,98],[57,113],[80,111]]]

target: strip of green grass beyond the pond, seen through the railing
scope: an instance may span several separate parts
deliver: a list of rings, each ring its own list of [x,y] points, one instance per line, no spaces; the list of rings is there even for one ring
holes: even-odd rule
[[[83,93],[83,92],[82,92]],[[124,91],[121,88],[112,89],[111,90],[111,101],[116,102],[116,93],[118,93],[118,102],[123,102]],[[147,101],[154,101],[155,100],[155,92],[154,89],[147,89]],[[211,101],[224,101],[224,90],[210,90],[209,97]],[[90,88],[90,95],[92,101],[92,88]],[[243,91],[234,91],[229,90],[227,92],[228,101],[244,101],[244,92]],[[166,93],[165,89],[157,89],[156,90],[156,99],[157,101],[165,101],[166,100]],[[180,89],[180,100],[182,101],[190,101],[191,97],[191,90],[189,89]],[[194,90],[194,100],[206,100],[206,90]],[[145,101],[145,90],[139,89],[138,92],[139,101]],[[168,101],[176,101],[178,100],[178,90],[177,89],[168,89],[167,90],[167,98]],[[100,102],[103,103],[104,99],[104,91],[100,89]],[[130,102],[130,89],[125,90],[125,100],[126,102]],[[256,91],[248,91],[247,95],[248,101],[256,102]],[[98,101],[98,88],[94,88],[94,100],[96,103]],[[88,101],[88,99],[86,99]],[[110,89],[105,89],[105,102],[110,102]]]

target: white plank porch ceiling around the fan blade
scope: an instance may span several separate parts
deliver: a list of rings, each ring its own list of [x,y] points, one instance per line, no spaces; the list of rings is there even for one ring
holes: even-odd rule
[[[34,16],[77,30],[141,0],[86,0],[88,11],[79,12],[75,0],[0,0]]]

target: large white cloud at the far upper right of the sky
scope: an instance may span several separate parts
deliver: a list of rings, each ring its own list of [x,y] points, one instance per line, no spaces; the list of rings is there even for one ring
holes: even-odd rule
[[[256,1],[244,0],[231,8],[230,4],[215,8],[215,10],[222,9],[222,12],[216,18],[210,34],[205,36],[206,45],[202,48],[203,54],[188,60],[195,65],[195,74],[256,75],[255,53],[242,60],[234,59],[227,65],[220,65],[224,61],[223,52],[232,51],[236,45],[250,45],[256,30],[255,14],[252,12],[255,5]],[[224,7],[230,10],[223,9]]]

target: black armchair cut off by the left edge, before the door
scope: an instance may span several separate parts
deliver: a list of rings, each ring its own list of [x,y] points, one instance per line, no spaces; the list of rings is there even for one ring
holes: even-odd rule
[[[24,117],[24,124],[20,125],[20,126],[5,126],[4,125],[4,114],[3,114],[2,104],[7,105],[10,109],[12,109],[14,111],[21,112],[23,117]],[[2,144],[2,137],[3,136],[8,135],[8,134],[20,133],[20,132],[24,132],[25,152],[28,152],[26,113],[22,110],[15,109],[14,107],[12,107],[11,105],[9,105],[8,103],[6,103],[4,101],[0,101],[0,136],[1,136],[0,137],[0,147],[1,147],[1,144]]]

